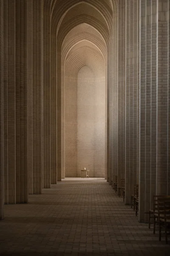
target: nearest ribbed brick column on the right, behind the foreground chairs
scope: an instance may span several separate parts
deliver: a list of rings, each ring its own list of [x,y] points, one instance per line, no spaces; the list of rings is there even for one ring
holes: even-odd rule
[[[139,220],[146,220],[153,195],[170,194],[170,2],[141,0],[140,12]]]

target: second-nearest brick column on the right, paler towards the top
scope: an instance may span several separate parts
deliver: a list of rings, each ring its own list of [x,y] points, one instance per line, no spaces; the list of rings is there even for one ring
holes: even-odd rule
[[[126,1],[125,204],[137,183],[138,2]]]

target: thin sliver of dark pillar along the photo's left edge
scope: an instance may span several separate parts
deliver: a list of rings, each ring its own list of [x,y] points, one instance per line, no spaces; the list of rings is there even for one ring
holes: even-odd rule
[[[0,220],[4,204],[4,133],[3,133],[3,0],[0,0]]]

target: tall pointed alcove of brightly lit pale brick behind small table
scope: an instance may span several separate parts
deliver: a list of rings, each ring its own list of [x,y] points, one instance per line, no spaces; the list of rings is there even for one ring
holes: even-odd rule
[[[105,177],[105,53],[102,36],[86,23],[72,29],[63,42],[62,178],[79,177],[84,168],[90,177]]]

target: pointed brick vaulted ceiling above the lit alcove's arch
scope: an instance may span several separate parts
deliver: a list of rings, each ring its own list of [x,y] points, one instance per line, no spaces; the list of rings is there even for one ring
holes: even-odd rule
[[[67,33],[81,23],[94,26],[108,44],[113,28],[110,0],[52,0],[51,32],[58,35],[57,41],[63,41]]]

